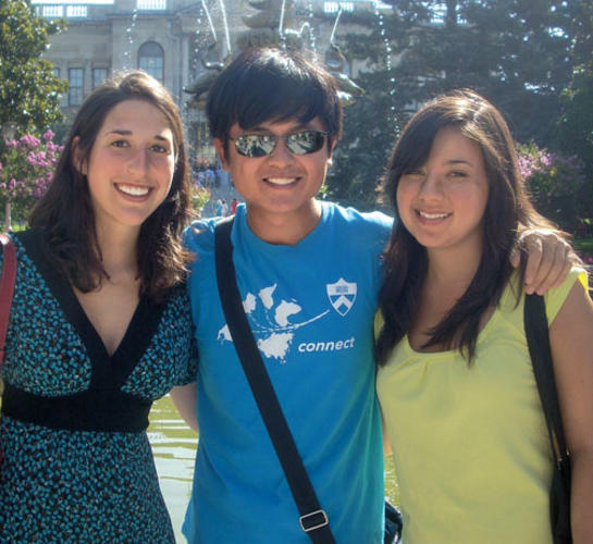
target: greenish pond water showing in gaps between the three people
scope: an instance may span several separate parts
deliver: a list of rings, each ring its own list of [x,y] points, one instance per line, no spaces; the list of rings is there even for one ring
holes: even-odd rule
[[[182,536],[181,527],[192,493],[198,436],[186,426],[169,396],[161,398],[152,406],[148,436],[175,536],[177,543],[182,544],[185,543],[185,539]],[[397,503],[397,487],[391,458],[385,463],[385,486],[387,498]]]

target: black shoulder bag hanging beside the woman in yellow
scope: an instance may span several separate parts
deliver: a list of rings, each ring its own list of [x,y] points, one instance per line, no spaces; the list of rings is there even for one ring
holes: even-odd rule
[[[558,393],[554,380],[545,302],[539,295],[526,295],[524,329],[533,373],[547,423],[555,468],[549,490],[549,520],[554,544],[571,544],[570,454],[566,446]]]

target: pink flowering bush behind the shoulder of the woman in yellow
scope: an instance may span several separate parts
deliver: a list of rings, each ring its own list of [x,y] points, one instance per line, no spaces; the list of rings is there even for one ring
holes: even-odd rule
[[[518,146],[519,170],[540,213],[573,232],[579,215],[578,195],[584,186],[584,164],[577,157]]]

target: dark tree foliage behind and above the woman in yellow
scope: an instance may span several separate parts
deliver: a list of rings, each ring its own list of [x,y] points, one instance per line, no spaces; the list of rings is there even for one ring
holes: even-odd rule
[[[387,118],[395,118],[401,127],[418,106],[454,88],[470,87],[492,100],[518,141],[533,140],[540,147],[560,150],[560,119],[568,132],[591,135],[589,125],[573,127],[591,119],[593,109],[591,65],[575,72],[592,58],[590,0],[387,1],[394,5],[391,14],[383,15],[393,51],[391,71],[382,61],[385,46],[376,16],[354,15],[350,20],[367,26],[367,37],[338,35],[348,58],[369,59],[370,63],[369,74],[357,79],[367,95],[350,107],[361,119],[353,119],[357,115],[350,116],[349,109],[346,113],[342,152],[334,161],[336,175],[330,178],[332,196],[344,198],[347,188],[371,198],[376,174],[397,134],[397,127],[385,125]],[[392,79],[395,92],[386,84]],[[388,113],[394,99],[395,116]],[[353,128],[358,137],[350,135]],[[580,145],[585,144],[581,139]],[[593,157],[586,147],[564,151]]]

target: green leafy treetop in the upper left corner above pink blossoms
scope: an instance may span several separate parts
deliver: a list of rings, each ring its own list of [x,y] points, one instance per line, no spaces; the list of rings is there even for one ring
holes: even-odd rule
[[[38,17],[28,0],[0,2],[0,127],[41,134],[62,119],[59,95],[67,84],[40,58],[61,24]]]

